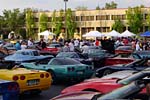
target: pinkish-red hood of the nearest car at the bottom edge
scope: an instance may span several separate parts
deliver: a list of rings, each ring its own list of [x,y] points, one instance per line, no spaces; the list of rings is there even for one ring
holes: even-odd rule
[[[98,92],[73,92],[59,95],[57,97],[52,98],[51,100],[91,100],[94,95],[98,95]]]

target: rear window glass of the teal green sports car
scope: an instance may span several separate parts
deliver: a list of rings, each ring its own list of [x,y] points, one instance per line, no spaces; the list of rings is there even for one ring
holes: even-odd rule
[[[67,58],[55,58],[50,62],[50,65],[76,65],[81,64],[80,62],[73,60],[73,59],[67,59]]]

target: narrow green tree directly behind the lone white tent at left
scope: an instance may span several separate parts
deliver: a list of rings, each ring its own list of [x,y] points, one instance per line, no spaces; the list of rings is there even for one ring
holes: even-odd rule
[[[47,27],[48,27],[48,16],[45,13],[42,13],[39,19],[40,31],[45,31]]]

